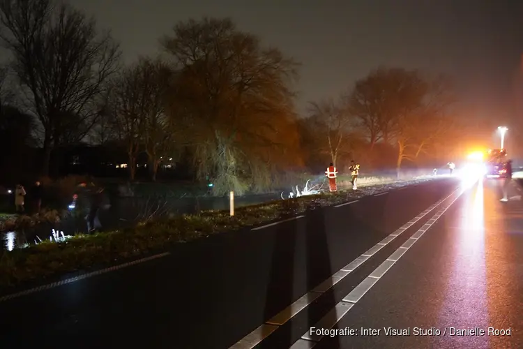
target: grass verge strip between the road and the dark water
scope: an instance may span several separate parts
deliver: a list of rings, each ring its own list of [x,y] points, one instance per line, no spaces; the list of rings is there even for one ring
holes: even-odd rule
[[[413,181],[398,182],[397,186],[412,183]],[[43,242],[28,248],[3,251],[0,257],[0,286],[45,279],[56,274],[88,269],[94,265],[111,265],[136,255],[166,250],[173,244],[296,216],[310,205],[337,205],[386,188],[386,184],[380,184],[358,191],[310,195],[241,207],[235,210],[233,217],[229,216],[228,211],[205,211],[142,223],[135,228],[114,232],[77,235],[66,242]]]

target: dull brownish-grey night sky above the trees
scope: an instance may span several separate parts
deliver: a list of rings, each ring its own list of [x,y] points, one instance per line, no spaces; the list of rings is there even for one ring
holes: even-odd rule
[[[126,59],[158,52],[189,17],[232,17],[301,61],[306,101],[336,96],[380,65],[452,75],[467,117],[512,119],[523,53],[520,0],[73,0],[121,40]]]

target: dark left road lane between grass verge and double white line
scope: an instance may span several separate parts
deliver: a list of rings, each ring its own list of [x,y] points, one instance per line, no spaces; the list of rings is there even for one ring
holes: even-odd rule
[[[237,343],[236,348],[251,348],[252,346],[242,344],[245,341],[238,341],[264,322],[270,321],[289,304],[298,299],[303,300],[301,297],[307,294],[309,300],[314,297],[315,301],[302,311],[296,311],[295,305],[290,314],[284,311],[273,318],[271,323],[279,326],[266,325],[263,331],[265,334],[268,333],[267,330],[275,330],[258,346],[289,348],[308,327],[324,317],[348,291],[363,281],[372,269],[406,242],[409,235],[422,228],[440,208],[434,207],[434,204],[448,197],[459,186],[460,181],[457,179],[440,179],[362,198],[349,205],[312,210],[302,218],[268,228],[243,230],[181,245],[162,258],[115,269],[31,295],[2,300],[1,347],[221,349]],[[486,202],[487,193],[490,192],[487,188],[484,192]],[[463,197],[467,195],[470,194],[466,193]],[[459,200],[455,206],[461,202]],[[496,202],[492,205],[506,205],[504,209],[513,205],[513,202],[501,204],[494,201]],[[429,207],[433,209],[430,212],[427,211]],[[420,215],[422,212],[423,216]],[[416,216],[418,217],[415,218]],[[408,228],[401,228],[406,227],[405,223]],[[445,232],[439,234],[441,238],[446,235],[450,235],[448,239],[455,237],[452,231],[447,234],[446,228],[437,228],[437,225],[429,230],[430,234],[427,236],[434,235],[432,230],[437,229]],[[398,236],[391,240],[388,236],[393,232],[397,232]],[[514,236],[513,239],[517,239],[517,235]],[[441,263],[431,264],[434,258],[444,258],[444,255],[440,253],[436,257],[427,258],[430,253],[444,251],[440,246],[443,243],[441,238],[436,242],[432,241],[428,248],[423,248],[420,259],[416,260],[414,267],[410,267],[411,270],[400,270],[400,276],[391,276],[395,270],[402,269],[395,266],[384,279],[406,277],[413,284],[418,282],[416,287],[419,287],[419,281],[426,280],[423,273],[419,274],[422,269],[420,265],[427,264],[423,268],[433,268],[432,279],[438,279],[437,283],[448,284],[446,278],[440,275]],[[388,239],[385,244],[382,243],[379,248],[373,247],[383,239]],[[427,240],[429,239],[425,238]],[[497,253],[502,256],[506,253],[503,246],[509,241],[508,237],[501,240],[503,244]],[[427,243],[423,242],[423,246],[425,244]],[[413,250],[416,251],[419,246],[422,244],[415,245]],[[372,251],[367,251],[370,248]],[[347,269],[347,264],[362,254],[367,254],[368,257],[361,267],[354,272],[339,272],[342,268]],[[409,255],[414,254],[407,253],[398,264],[407,263],[407,258],[411,258]],[[452,261],[447,263],[452,264]],[[510,273],[514,273],[510,268],[515,267],[505,266]],[[345,277],[331,279],[333,274]],[[477,276],[477,273],[472,276]],[[323,281],[326,283],[322,283]],[[393,326],[394,323],[397,326],[402,325],[398,319],[403,316],[404,309],[395,308],[395,311],[389,311],[389,301],[394,297],[405,297],[415,286],[402,283],[398,285],[391,281],[380,281],[377,285],[379,287],[372,288],[361,303],[354,306],[354,311],[349,312],[349,315],[357,314],[352,315],[356,318],[347,315],[342,322],[357,320],[370,327],[379,327],[382,322],[389,323],[385,319],[392,314],[397,320],[391,320],[391,325],[388,326]],[[447,291],[441,290],[441,287],[430,287],[427,285],[419,291],[417,303],[413,302],[410,309],[421,311],[425,303],[436,306],[439,298],[435,295],[429,297],[427,292],[446,295]],[[313,289],[316,292],[308,293]],[[377,304],[374,300],[365,307],[361,306],[367,302],[366,299],[372,297],[372,291],[377,290],[385,292],[374,296],[381,303]],[[464,291],[464,288],[460,290]],[[505,304],[510,300],[511,298],[505,298]],[[462,301],[471,306],[474,304],[467,298],[462,298]],[[309,303],[305,302],[305,305]],[[357,311],[358,309],[360,310]],[[502,316],[503,311],[498,313]],[[294,316],[287,320],[290,315]],[[434,318],[432,320],[436,321]],[[439,322],[430,322],[431,325],[432,323]],[[516,322],[510,322],[512,323],[515,327]],[[250,341],[254,337],[250,335],[246,340]],[[261,337],[258,336],[257,341]],[[342,342],[343,348],[360,348],[360,344],[365,347],[367,343],[374,345],[369,338],[358,337],[359,341],[367,341],[360,343],[353,342],[349,337],[333,337],[332,341]],[[324,348],[333,348],[333,344],[335,343],[327,343]],[[318,346],[321,345],[324,342]],[[379,346],[384,345],[379,343]]]

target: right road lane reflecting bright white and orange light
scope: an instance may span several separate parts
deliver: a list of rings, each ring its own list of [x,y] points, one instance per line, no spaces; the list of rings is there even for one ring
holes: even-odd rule
[[[523,348],[523,202],[516,185],[499,202],[500,184],[478,181],[382,276],[364,267],[379,279],[356,302],[349,296],[361,292],[340,290],[330,322],[354,332],[319,338],[305,329],[292,348]]]

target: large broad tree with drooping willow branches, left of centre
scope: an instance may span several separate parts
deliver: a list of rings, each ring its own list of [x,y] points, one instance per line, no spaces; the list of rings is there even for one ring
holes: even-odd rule
[[[182,22],[162,44],[183,87],[171,114],[194,136],[197,175],[216,194],[271,184],[275,167],[299,161],[294,61],[229,19]]]

